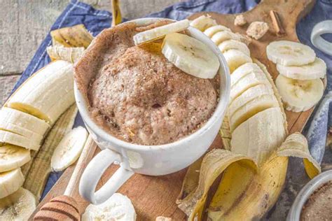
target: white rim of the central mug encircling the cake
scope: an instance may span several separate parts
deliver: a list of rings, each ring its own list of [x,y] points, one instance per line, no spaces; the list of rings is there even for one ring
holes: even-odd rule
[[[158,20],[170,20],[166,18],[160,18],[160,17],[146,17],[146,18],[139,18],[137,20],[131,20],[128,22],[135,22],[139,26],[144,26],[148,24],[152,24],[153,22],[157,22]],[[172,20],[174,21],[174,20]],[[127,22],[124,22],[127,23]],[[123,24],[124,24],[123,23]],[[176,148],[178,146],[181,146],[183,143],[187,143],[188,141],[191,141],[195,136],[200,136],[201,134],[205,133],[205,131],[209,130],[216,122],[216,119],[220,117],[220,115],[224,115],[226,112],[226,108],[228,105],[228,99],[230,96],[230,71],[228,69],[228,65],[226,62],[226,59],[221,54],[219,48],[209,39],[205,34],[202,33],[202,31],[199,31],[198,29],[195,29],[194,27],[188,27],[188,30],[191,33],[195,33],[198,36],[200,36],[198,40],[202,41],[202,39],[205,39],[205,43],[211,48],[216,56],[219,59],[219,70],[218,73],[220,80],[223,80],[223,77],[226,79],[226,83],[220,84],[220,92],[223,92],[220,97],[218,104],[214,110],[214,113],[211,117],[209,117],[209,120],[205,122],[205,124],[198,129],[197,131],[188,134],[187,136],[184,136],[183,138],[180,138],[177,141],[174,141],[172,143],[165,143],[162,145],[140,145],[137,143],[129,143],[127,141],[123,141],[120,138],[116,138],[116,136],[112,136],[108,132],[106,132],[102,127],[98,126],[90,117],[90,114],[88,113],[88,106],[85,102],[84,97],[82,96],[81,92],[78,90],[76,82],[74,83],[74,94],[75,94],[75,100],[76,105],[78,107],[78,110],[81,114],[81,117],[83,119],[83,122],[93,131],[94,134],[101,137],[105,141],[109,141],[110,143],[117,143],[118,145],[125,146],[125,148],[130,150],[140,150],[140,151],[151,151],[151,150],[166,150],[166,149],[172,149]],[[196,37],[195,37],[196,38]],[[224,81],[224,80],[223,80]],[[225,88],[224,88],[225,87]]]

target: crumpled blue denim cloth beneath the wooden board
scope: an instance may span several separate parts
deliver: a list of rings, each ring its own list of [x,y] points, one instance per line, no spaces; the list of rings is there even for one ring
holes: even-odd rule
[[[256,6],[256,1],[254,0],[200,0],[200,1],[187,1],[176,3],[173,6],[167,7],[158,13],[152,13],[146,17],[169,17],[174,20],[181,20],[193,13],[200,11],[214,11],[217,13],[241,13],[246,10],[250,10]],[[332,1],[321,0],[317,1],[313,10],[307,15],[297,26],[297,34],[300,41],[310,45],[310,33],[314,24],[320,22],[321,20],[332,19]],[[62,27],[69,27],[75,24],[84,24],[85,27],[92,33],[93,36],[99,34],[102,29],[110,27],[112,20],[111,13],[104,10],[95,10],[91,6],[85,3],[81,3],[76,0],[72,0],[63,13],[57,18],[51,30],[59,29]],[[325,36],[326,39],[332,40],[332,36]],[[24,82],[32,73],[36,72],[41,67],[45,66],[50,62],[50,59],[46,53],[46,47],[51,45],[50,34],[48,34],[41,43],[41,46],[36,51],[36,54],[32,58],[32,61],[27,66],[27,69],[22,73],[22,77],[15,85],[14,90]],[[325,55],[324,53],[316,50],[314,48],[317,56],[324,59],[328,66],[328,85],[326,91],[331,91],[332,89],[332,57]],[[327,93],[327,92],[326,92]],[[332,99],[332,98],[331,98]],[[330,97],[326,97],[325,100],[321,101],[321,104],[317,110],[315,110],[314,115],[310,118],[305,127],[305,133],[307,134],[308,142],[310,143],[310,151],[312,155],[321,162],[324,155],[325,139],[326,138],[326,128],[331,124],[331,108],[329,108]],[[313,122],[313,123],[311,123]],[[81,117],[78,115],[75,125],[83,124]],[[323,162],[332,161],[331,150],[325,152],[325,155],[329,157],[324,157]],[[327,159],[326,159],[327,158]],[[300,190],[305,183],[307,183],[307,176],[303,172],[303,167],[298,166],[302,164],[300,159],[292,159],[289,164],[289,172],[287,174],[286,187],[282,193],[276,206],[265,216],[265,220],[284,220],[286,213],[291,206],[291,202],[294,197],[296,197],[297,192]],[[296,178],[294,178],[296,175]],[[51,173],[46,188],[43,192],[42,198],[47,194],[50,188],[55,184],[56,180],[61,176],[61,173]]]

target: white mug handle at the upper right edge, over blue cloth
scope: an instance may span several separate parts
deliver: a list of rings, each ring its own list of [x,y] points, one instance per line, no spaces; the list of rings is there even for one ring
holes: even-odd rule
[[[311,31],[311,43],[322,52],[332,55],[332,43],[321,38],[321,34],[332,33],[332,20],[317,23]]]

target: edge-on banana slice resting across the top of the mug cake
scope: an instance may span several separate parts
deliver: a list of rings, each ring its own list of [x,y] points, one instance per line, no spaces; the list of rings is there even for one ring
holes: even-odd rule
[[[133,37],[134,43],[135,45],[140,45],[142,43],[154,41],[159,38],[163,38],[167,34],[183,31],[188,27],[189,27],[189,20],[181,20],[179,22],[174,22],[160,27],[156,27],[154,29],[149,29],[147,31],[142,31],[134,35]]]

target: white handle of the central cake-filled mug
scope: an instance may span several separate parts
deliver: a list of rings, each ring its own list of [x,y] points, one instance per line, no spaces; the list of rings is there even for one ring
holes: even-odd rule
[[[86,166],[80,180],[79,193],[92,204],[102,204],[109,199],[127,181],[133,171],[123,166],[113,173],[113,176],[97,191],[97,184],[106,169],[114,162],[122,162],[122,157],[113,150],[105,149],[99,152]]]

